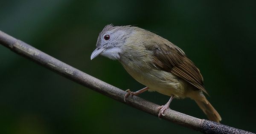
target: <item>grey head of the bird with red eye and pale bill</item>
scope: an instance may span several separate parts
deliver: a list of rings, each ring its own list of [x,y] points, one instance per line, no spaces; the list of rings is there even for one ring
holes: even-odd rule
[[[99,33],[96,49],[90,57],[91,60],[99,54],[112,60],[119,60],[119,54],[122,53],[121,47],[125,44],[129,35],[132,34],[133,29],[131,26],[105,26]]]

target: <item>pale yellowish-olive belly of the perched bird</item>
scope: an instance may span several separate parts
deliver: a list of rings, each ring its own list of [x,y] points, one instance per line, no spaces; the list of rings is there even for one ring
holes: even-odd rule
[[[125,69],[135,80],[147,86],[151,91],[157,91],[168,96],[185,97],[184,84],[172,73],[161,70],[145,72],[143,70],[135,71],[130,68]]]

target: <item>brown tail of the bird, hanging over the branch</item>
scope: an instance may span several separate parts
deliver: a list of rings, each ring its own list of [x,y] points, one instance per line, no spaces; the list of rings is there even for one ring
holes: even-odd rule
[[[200,98],[196,99],[195,102],[204,111],[204,114],[207,115],[209,120],[215,121],[217,123],[219,123],[221,121],[221,116],[213,108],[211,103],[209,103],[209,101],[206,99],[206,97],[204,95],[202,95]]]

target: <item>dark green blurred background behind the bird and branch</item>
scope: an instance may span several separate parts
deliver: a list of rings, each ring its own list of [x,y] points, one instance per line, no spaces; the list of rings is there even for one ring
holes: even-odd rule
[[[256,1],[1,0],[0,30],[123,90],[136,82],[117,61],[90,60],[107,24],[136,25],[175,43],[200,68],[222,122],[256,132]],[[146,92],[159,105],[169,97]],[[176,111],[204,113],[190,99]],[[199,134],[85,88],[0,46],[2,134]]]

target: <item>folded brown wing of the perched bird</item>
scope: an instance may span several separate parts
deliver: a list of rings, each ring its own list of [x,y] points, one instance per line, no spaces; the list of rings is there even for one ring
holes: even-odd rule
[[[199,69],[180,48],[171,43],[163,43],[156,44],[151,49],[154,52],[153,58],[156,66],[164,71],[172,72],[207,93]]]

